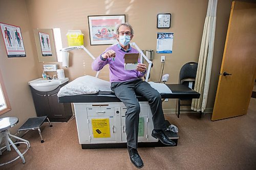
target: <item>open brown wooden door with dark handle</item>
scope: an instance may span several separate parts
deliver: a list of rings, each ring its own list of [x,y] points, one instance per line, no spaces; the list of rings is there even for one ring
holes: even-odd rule
[[[232,2],[211,120],[247,113],[255,65],[256,4]]]

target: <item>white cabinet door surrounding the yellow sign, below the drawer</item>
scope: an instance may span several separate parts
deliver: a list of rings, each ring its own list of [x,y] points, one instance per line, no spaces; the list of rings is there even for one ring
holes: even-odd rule
[[[92,119],[99,119],[99,118],[109,118],[109,125],[110,125],[110,137],[107,138],[94,138],[93,137],[93,128],[92,128]],[[89,120],[89,131],[91,136],[91,142],[116,142],[116,125],[115,125],[115,116],[88,116]]]

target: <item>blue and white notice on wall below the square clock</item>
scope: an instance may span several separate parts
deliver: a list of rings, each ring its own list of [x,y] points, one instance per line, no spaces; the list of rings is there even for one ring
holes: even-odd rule
[[[174,33],[157,33],[157,53],[173,53]]]

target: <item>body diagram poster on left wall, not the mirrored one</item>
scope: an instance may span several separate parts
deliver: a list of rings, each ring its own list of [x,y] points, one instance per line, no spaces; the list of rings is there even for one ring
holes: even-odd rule
[[[26,57],[22,32],[17,26],[1,23],[1,32],[8,57]]]

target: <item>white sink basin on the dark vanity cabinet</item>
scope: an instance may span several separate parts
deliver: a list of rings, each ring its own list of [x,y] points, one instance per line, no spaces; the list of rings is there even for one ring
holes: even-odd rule
[[[29,85],[38,91],[52,91],[56,89],[59,85],[66,83],[67,81],[69,81],[69,78],[61,80],[42,80],[42,78],[40,78],[30,81]]]

